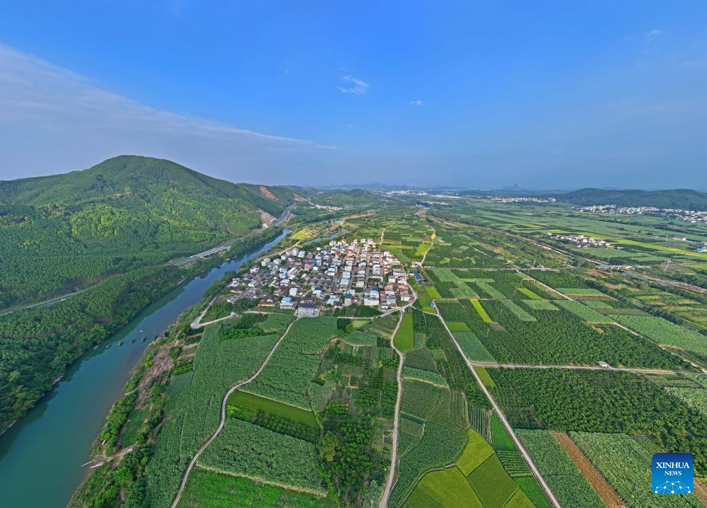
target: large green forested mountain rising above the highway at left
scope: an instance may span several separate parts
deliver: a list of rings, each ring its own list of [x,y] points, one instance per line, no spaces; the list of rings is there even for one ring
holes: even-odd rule
[[[300,199],[129,155],[0,181],[0,309],[210,248]]]

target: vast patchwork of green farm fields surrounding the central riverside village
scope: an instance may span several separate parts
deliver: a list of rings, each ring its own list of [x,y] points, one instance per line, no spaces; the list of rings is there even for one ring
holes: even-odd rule
[[[623,243],[625,258],[649,260],[665,257],[640,252],[653,226],[582,218],[561,206],[510,205],[506,213],[466,198],[416,214],[405,199],[337,225],[352,237],[378,241],[382,233],[383,248],[402,264],[427,252],[423,265],[408,267],[418,300],[404,313],[362,319],[370,309],[322,306],[322,317],[293,322],[292,311],[259,308],[177,346],[164,395],[155,396],[164,401],[159,434],[143,455],[150,506],[173,500],[218,425],[223,394],[255,372],[291,323],[259,375],[226,401],[224,428],[199,456],[180,507],[378,506],[399,396],[388,507],[549,508],[474,371],[565,508],[653,508],[645,492],[631,492],[645,483],[638,464],[652,451],[690,452],[696,473],[707,473],[707,381],[691,364],[707,365],[707,300],[597,269],[583,256],[609,254],[568,250],[547,235],[582,227],[621,239],[623,231],[641,242]],[[141,439],[150,418],[144,405],[127,403],[109,422],[115,447]],[[636,471],[616,465],[624,454]]]

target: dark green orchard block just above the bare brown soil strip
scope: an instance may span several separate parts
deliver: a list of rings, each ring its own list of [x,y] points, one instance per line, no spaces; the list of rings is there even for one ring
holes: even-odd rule
[[[489,369],[492,390],[514,428],[653,435],[693,454],[707,471],[707,418],[631,373]],[[684,429],[675,433],[672,429]]]

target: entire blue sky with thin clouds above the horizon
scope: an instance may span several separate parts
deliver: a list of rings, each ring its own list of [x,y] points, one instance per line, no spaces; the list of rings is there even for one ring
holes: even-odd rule
[[[263,183],[707,188],[704,1],[0,11],[0,178],[136,153]]]

